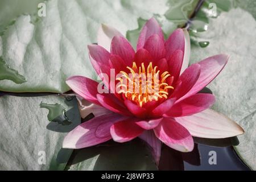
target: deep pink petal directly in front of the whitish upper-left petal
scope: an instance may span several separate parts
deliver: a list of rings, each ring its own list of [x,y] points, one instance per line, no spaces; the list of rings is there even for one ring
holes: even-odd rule
[[[111,43],[111,53],[120,56],[126,65],[132,65],[135,52],[131,44],[123,36],[114,36]]]

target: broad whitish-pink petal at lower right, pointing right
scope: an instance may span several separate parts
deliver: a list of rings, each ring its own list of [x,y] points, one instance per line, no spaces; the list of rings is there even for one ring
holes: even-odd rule
[[[223,114],[207,109],[194,115],[175,118],[193,137],[228,138],[244,133],[241,126]]]

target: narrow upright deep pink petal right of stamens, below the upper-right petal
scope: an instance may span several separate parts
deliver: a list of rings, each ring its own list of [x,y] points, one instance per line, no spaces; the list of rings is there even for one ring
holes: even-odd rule
[[[172,53],[170,59],[168,60],[169,73],[174,76],[174,82],[180,76],[180,71],[183,63],[183,52],[179,49]]]

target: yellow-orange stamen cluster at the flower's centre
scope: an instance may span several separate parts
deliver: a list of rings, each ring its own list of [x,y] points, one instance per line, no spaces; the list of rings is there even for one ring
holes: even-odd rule
[[[131,68],[126,68],[129,73],[121,71],[121,76],[116,79],[119,81],[118,93],[122,93],[128,100],[134,101],[141,107],[148,101],[167,99],[169,89],[174,89],[166,82],[171,76],[170,73],[166,71],[159,76],[160,71],[156,66],[153,68],[152,62],[147,68],[144,67],[144,63],[138,68],[135,62]]]

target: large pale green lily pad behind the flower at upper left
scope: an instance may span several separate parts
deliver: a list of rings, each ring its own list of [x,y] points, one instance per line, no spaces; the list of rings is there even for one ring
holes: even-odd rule
[[[127,30],[138,27],[138,18],[149,19],[155,15],[166,19],[175,2],[47,1],[46,17],[19,16],[1,36],[0,56],[26,82],[15,84],[7,78],[0,81],[0,90],[63,93],[69,90],[65,84],[69,76],[96,79],[86,47],[97,42],[100,23],[109,24],[125,35]],[[191,10],[186,7],[184,11]],[[34,22],[35,18],[38,21]]]

